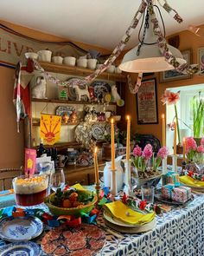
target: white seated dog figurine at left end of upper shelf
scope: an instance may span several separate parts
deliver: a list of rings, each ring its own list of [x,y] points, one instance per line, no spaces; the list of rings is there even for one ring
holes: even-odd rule
[[[46,79],[44,76],[38,76],[36,84],[31,90],[32,98],[35,99],[48,99],[46,97]]]

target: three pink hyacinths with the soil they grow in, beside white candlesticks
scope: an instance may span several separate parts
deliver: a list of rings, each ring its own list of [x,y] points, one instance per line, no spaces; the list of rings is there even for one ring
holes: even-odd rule
[[[167,155],[168,149],[166,147],[160,148],[155,155],[150,144],[147,144],[143,150],[137,145],[136,148],[133,149],[131,162],[134,167],[137,168],[140,179],[152,180],[155,176],[161,174],[161,171],[158,171],[158,167]]]

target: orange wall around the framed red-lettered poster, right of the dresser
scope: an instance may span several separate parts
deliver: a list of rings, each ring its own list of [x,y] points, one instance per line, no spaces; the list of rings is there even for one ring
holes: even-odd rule
[[[204,47],[204,38],[195,36],[188,30],[182,31],[180,34],[180,50],[192,49],[193,63],[197,63],[197,49]],[[153,76],[149,76],[152,78]],[[148,79],[149,77],[144,77]],[[132,130],[139,134],[152,134],[155,135],[160,141],[162,141],[162,120],[161,115],[165,113],[165,106],[161,102],[161,96],[166,88],[178,87],[192,84],[204,83],[204,76],[194,75],[190,79],[175,81],[175,82],[159,82],[159,73],[155,73],[157,83],[157,105],[158,105],[158,124],[153,125],[138,125],[137,124],[137,106],[136,96],[130,93],[130,90],[126,89],[126,112],[132,116]],[[136,81],[137,75],[131,75],[132,81]],[[203,85],[204,87],[204,85]]]

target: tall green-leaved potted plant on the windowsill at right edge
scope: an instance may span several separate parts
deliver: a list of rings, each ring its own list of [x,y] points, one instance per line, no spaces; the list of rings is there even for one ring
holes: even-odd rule
[[[194,95],[191,106],[194,119],[194,140],[200,144],[201,136],[204,134],[204,101],[201,98],[201,91],[199,95]]]

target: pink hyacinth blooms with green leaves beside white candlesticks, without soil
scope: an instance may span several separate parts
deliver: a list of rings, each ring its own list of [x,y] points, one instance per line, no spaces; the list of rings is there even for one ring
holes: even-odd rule
[[[152,146],[147,144],[142,151],[138,145],[133,149],[132,163],[139,172],[153,171],[156,172],[161,164],[161,161],[168,155],[166,147],[160,148],[157,155],[153,153]],[[150,167],[152,165],[152,167]],[[153,173],[154,174],[154,173]]]

